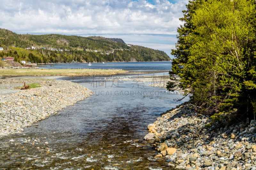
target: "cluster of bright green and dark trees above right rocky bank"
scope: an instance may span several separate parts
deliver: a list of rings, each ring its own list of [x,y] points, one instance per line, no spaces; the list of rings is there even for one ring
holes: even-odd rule
[[[181,20],[168,89],[186,90],[213,120],[254,119],[255,1],[189,1]]]

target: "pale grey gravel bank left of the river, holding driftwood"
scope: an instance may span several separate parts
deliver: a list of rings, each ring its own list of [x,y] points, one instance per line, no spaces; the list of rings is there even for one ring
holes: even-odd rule
[[[41,87],[19,90],[26,84],[38,83]],[[74,105],[92,95],[77,83],[49,79],[0,80],[0,137],[22,133],[23,129],[57,111]]]

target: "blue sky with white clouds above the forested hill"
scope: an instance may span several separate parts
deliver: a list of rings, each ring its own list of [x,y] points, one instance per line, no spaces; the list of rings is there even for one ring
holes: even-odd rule
[[[166,52],[188,0],[1,0],[0,27],[18,34],[121,38]]]

